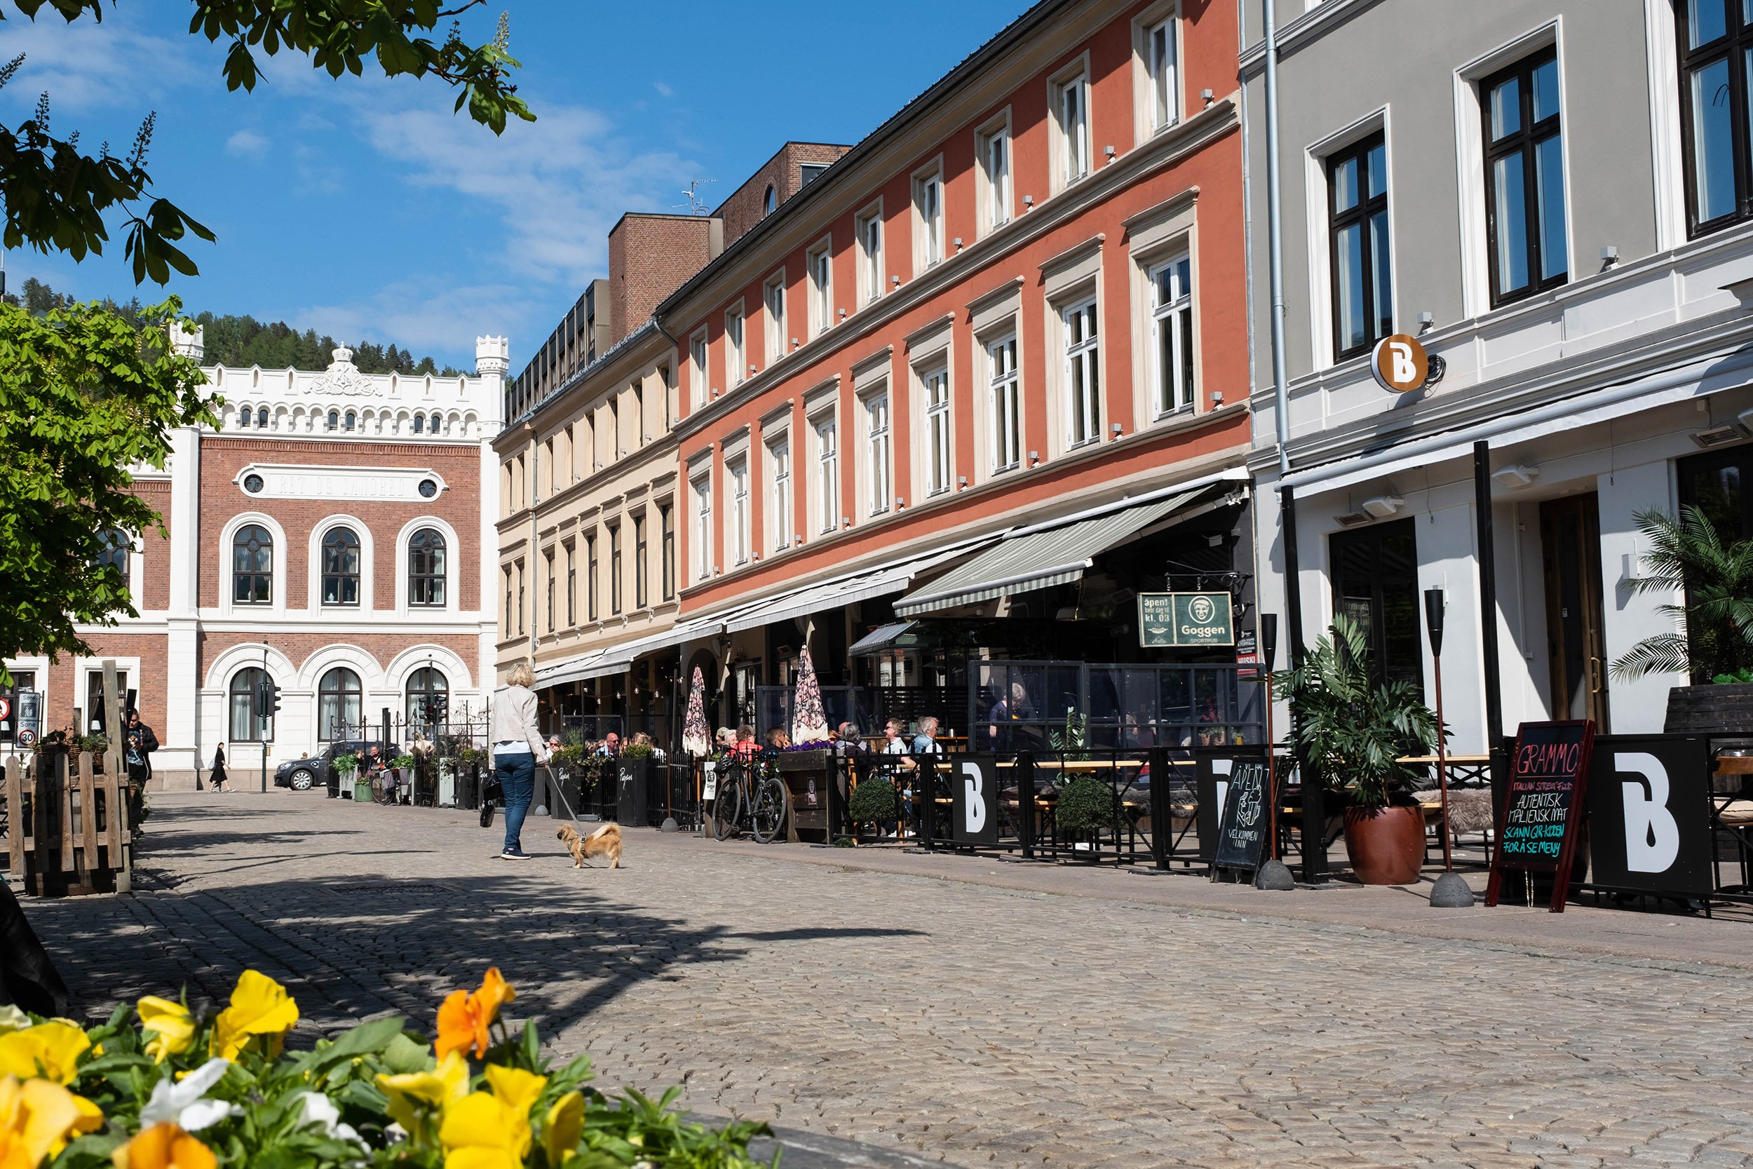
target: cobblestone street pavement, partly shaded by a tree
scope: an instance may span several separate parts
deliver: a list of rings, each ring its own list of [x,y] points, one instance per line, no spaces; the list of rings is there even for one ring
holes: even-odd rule
[[[1055,896],[649,831],[624,871],[573,871],[547,820],[515,864],[466,813],[154,801],[135,896],[28,904],[88,1010],[182,981],[223,995],[258,966],[305,1029],[386,1010],[429,1025],[498,962],[515,1010],[589,1050],[605,1087],[684,1083],[703,1113],[969,1169],[1753,1164],[1753,971],[1685,953],[1541,953],[1125,896],[1175,880]]]

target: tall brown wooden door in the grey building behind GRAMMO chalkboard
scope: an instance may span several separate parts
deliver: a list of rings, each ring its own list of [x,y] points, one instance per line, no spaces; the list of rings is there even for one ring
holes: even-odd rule
[[[1551,717],[1608,731],[1608,650],[1600,633],[1600,507],[1595,492],[1539,507],[1546,559]]]

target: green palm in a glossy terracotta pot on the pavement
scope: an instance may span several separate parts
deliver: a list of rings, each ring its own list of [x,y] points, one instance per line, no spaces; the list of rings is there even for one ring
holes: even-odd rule
[[[1273,675],[1290,701],[1297,745],[1345,796],[1345,850],[1366,885],[1406,885],[1423,864],[1418,773],[1395,762],[1436,747],[1436,715],[1409,682],[1376,678],[1369,640],[1343,613],[1302,664]]]

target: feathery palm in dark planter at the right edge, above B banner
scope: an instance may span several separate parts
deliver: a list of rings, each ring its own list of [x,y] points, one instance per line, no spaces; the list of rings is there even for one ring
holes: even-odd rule
[[[1657,612],[1674,633],[1648,636],[1613,662],[1613,677],[1683,673],[1697,685],[1667,692],[1667,731],[1753,733],[1753,540],[1723,540],[1697,507],[1674,519],[1637,512],[1650,550],[1639,557],[1632,592],[1672,598]]]

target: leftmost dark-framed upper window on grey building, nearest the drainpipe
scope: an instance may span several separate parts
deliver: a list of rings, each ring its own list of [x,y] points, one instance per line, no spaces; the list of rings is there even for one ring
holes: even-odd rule
[[[1374,133],[1327,159],[1332,193],[1332,354],[1352,358],[1394,331],[1388,145]]]

